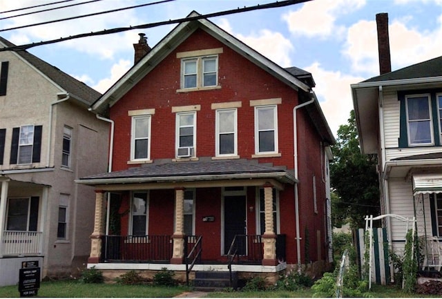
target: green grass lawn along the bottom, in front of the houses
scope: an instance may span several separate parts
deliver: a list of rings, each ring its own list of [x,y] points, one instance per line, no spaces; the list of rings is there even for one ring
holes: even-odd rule
[[[153,287],[150,285],[84,284],[76,280],[41,282],[38,297],[46,298],[171,298],[191,291],[187,287]],[[434,297],[403,293],[392,286],[373,285],[372,298]],[[19,297],[17,286],[0,287],[0,298]],[[299,291],[225,291],[210,292],[209,298],[311,298],[311,289]]]

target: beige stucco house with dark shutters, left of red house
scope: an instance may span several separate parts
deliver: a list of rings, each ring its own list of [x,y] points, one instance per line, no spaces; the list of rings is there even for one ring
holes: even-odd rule
[[[107,169],[109,124],[88,111],[100,94],[27,51],[0,64],[0,285],[23,260],[69,276],[87,261],[95,204],[74,181]]]

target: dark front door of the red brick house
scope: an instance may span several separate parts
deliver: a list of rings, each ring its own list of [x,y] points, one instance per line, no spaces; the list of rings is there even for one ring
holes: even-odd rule
[[[246,233],[246,197],[244,195],[224,196],[224,254],[229,248],[235,235]],[[245,238],[237,240],[238,254],[246,253]]]

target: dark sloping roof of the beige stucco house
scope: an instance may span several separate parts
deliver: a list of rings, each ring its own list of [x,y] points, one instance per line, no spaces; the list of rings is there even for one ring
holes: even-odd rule
[[[7,39],[0,37],[0,45],[3,44],[5,47],[13,47],[12,44]],[[57,84],[60,88],[66,90],[67,93],[72,95],[77,100],[82,100],[85,104],[93,104],[102,94],[97,92],[97,90],[87,86],[83,82],[75,79],[74,77],[64,73],[59,68],[48,64],[46,61],[39,59],[39,57],[30,54],[26,50],[13,51],[16,55],[28,61],[28,63],[42,74],[48,77],[52,82]]]

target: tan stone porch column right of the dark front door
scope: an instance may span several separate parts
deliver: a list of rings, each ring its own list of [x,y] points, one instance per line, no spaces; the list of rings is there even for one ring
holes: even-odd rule
[[[262,266],[276,266],[276,234],[273,231],[273,185],[264,185],[265,232],[262,235],[264,257]]]

